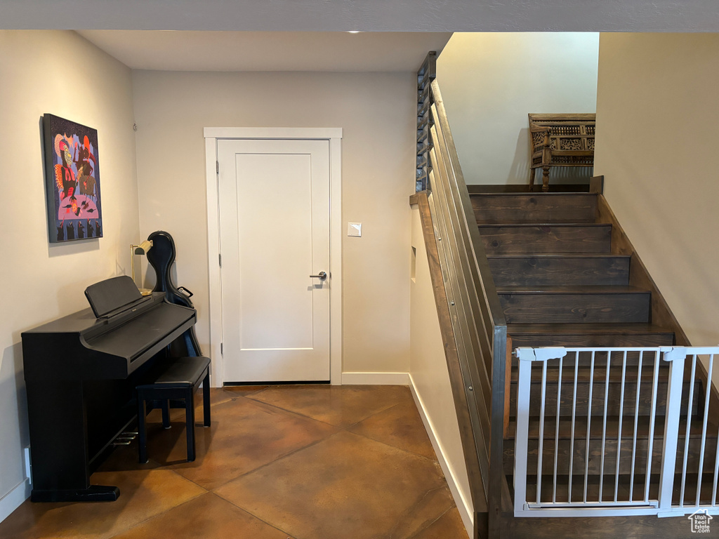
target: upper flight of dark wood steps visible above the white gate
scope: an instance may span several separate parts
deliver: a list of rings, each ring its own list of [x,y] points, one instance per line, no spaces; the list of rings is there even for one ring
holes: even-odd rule
[[[473,193],[477,225],[517,346],[664,346],[651,290],[598,222],[597,193]]]

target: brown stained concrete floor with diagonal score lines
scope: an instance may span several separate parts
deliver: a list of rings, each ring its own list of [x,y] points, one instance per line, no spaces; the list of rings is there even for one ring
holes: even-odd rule
[[[150,462],[133,443],[93,474],[116,502],[27,501],[0,538],[467,538],[407,387],[226,387],[211,406],[196,461],[183,412],[165,430],[153,411]]]

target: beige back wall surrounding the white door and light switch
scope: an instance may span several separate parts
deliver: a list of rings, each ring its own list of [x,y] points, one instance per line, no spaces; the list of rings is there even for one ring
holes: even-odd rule
[[[203,128],[342,127],[343,227],[363,224],[362,238],[343,238],[343,372],[407,372],[416,78],[135,71],[133,81],[140,229],[173,234],[201,345],[209,341]]]

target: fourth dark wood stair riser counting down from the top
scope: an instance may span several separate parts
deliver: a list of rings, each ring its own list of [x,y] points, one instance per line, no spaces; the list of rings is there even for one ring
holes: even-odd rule
[[[651,295],[499,292],[499,299],[507,323],[646,323]]]

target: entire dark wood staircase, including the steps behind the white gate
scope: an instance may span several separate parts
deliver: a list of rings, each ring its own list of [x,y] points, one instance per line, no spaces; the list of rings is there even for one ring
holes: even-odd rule
[[[673,344],[688,345],[684,333],[679,328],[671,311],[667,308],[661,295],[654,286],[651,277],[646,273],[644,265],[638,259],[633,247],[621,231],[603,197],[599,193],[471,193],[472,207],[477,218],[490,270],[497,287],[505,319],[508,324],[508,350],[520,346],[667,346]],[[566,366],[565,366],[566,369]],[[587,492],[590,496],[598,495],[600,482],[600,462],[602,459],[602,415],[605,407],[608,410],[607,431],[613,432],[613,439],[605,444],[603,499],[613,499],[615,482],[619,496],[627,499],[631,484],[632,464],[637,470],[646,469],[647,450],[650,438],[654,443],[651,449],[650,497],[656,497],[659,489],[659,471],[661,470],[661,440],[664,430],[666,413],[667,382],[664,374],[668,372],[666,365],[661,366],[658,385],[659,398],[654,412],[654,432],[651,432],[651,403],[642,400],[638,405],[636,455],[633,461],[633,436],[635,415],[634,393],[628,390],[623,395],[623,408],[620,407],[620,387],[623,377],[631,377],[635,382],[641,379],[641,395],[651,392],[651,366],[644,364],[638,372],[638,356],[628,355],[626,367],[622,362],[611,361],[608,398],[605,400],[606,354],[597,355],[594,372],[594,397],[589,403],[590,367],[580,364],[577,367],[577,402],[574,412],[577,413],[575,436],[570,453],[571,417],[572,417],[572,384],[574,383],[574,367],[571,372],[563,372],[562,401],[559,405],[559,443],[555,448],[557,434],[557,384],[559,372],[555,367],[548,369],[546,383],[546,415],[544,422],[544,455],[542,461],[542,487],[551,489],[553,484],[554,454],[557,452],[558,475],[563,475],[564,484],[557,485],[558,501],[568,501],[567,474],[569,473],[569,455],[573,454],[574,489],[572,502],[580,501],[584,491],[585,465],[589,480]],[[685,384],[688,385],[690,374],[687,368]],[[516,430],[516,394],[518,366],[515,358],[511,359],[508,376],[508,418],[505,420],[505,442],[503,466],[508,478],[510,492],[513,485],[514,438]],[[599,382],[597,382],[597,380]],[[663,380],[663,381],[662,381]],[[702,410],[706,378],[701,378],[697,370],[699,391],[695,391],[692,402],[690,425],[689,470],[698,469],[698,453],[700,451],[701,423],[705,410]],[[536,417],[530,418],[530,439],[539,436],[539,384],[541,377],[533,372],[531,406]],[[564,387],[567,390],[564,390]],[[682,401],[682,413],[686,415],[687,396]],[[569,395],[565,402],[564,395]],[[605,402],[606,401],[606,402]],[[631,404],[631,406],[630,406]],[[713,405],[716,403],[713,401]],[[589,408],[591,407],[591,413]],[[719,410],[713,407],[712,410]],[[587,463],[587,414],[592,418],[589,433],[589,455]],[[716,412],[709,418],[708,432],[713,437],[707,438],[706,451],[710,456],[704,464],[704,485],[713,482],[713,466],[717,444],[719,418]],[[620,418],[623,418],[620,428]],[[684,459],[684,429],[686,420],[680,425],[682,439],[677,456],[680,465]],[[577,434],[579,433],[579,434]],[[620,440],[620,441],[618,441]],[[618,451],[619,449],[619,451]],[[538,473],[536,441],[529,446],[530,464],[528,474],[528,499],[536,497],[534,482]],[[615,479],[617,454],[619,453],[619,479]],[[531,464],[533,461],[533,464]],[[577,470],[581,471],[577,471]],[[681,466],[679,466],[681,470]],[[655,476],[656,472],[656,476]],[[641,479],[641,478],[639,478]],[[644,492],[644,479],[639,481],[635,476],[633,490],[636,498]],[[531,483],[531,484],[530,484]],[[532,491],[532,488],[535,488]],[[695,489],[695,487],[692,487]],[[639,492],[641,489],[641,492]],[[549,492],[549,491],[548,491]],[[623,493],[623,494],[622,494]],[[687,496],[693,492],[687,491]],[[564,499],[562,499],[562,496]],[[676,497],[678,499],[678,492]],[[702,494],[704,497],[705,494]],[[549,493],[551,497],[551,493]],[[558,537],[556,530],[562,525],[551,518],[516,518],[511,520],[509,528],[520,537]],[[646,519],[646,517],[644,517]],[[554,520],[554,524],[552,524]],[[580,519],[577,519],[580,520]],[[587,519],[585,519],[587,520]],[[591,521],[592,519],[588,519]],[[629,536],[628,528],[620,532],[625,519],[603,518],[599,536]],[[631,520],[631,519],[630,519]],[[669,520],[673,520],[669,525]],[[684,519],[682,519],[684,520]],[[523,521],[523,522],[519,522]],[[540,521],[543,522],[542,525]],[[661,522],[664,521],[664,522]],[[646,519],[656,530],[651,535],[656,537],[674,537],[664,533],[676,534],[689,528],[679,519]],[[598,524],[598,522],[597,522]],[[539,525],[539,526],[538,526]],[[664,525],[664,528],[661,526]],[[559,526],[559,528],[557,528]],[[617,528],[614,528],[617,526]],[[603,528],[604,527],[604,528]],[[565,525],[566,528],[566,525]],[[659,530],[659,531],[657,531]],[[645,530],[646,531],[646,530]],[[610,535],[602,535],[607,534]],[[587,537],[595,535],[587,535]],[[633,536],[633,535],[632,535]],[[640,536],[640,535],[637,535]],[[641,535],[644,537],[644,535]],[[649,536],[649,534],[647,535]]]

